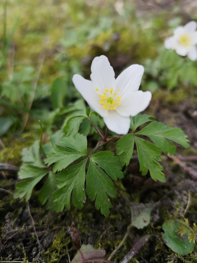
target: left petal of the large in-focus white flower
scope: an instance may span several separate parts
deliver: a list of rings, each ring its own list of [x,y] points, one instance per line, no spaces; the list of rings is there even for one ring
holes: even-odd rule
[[[75,74],[72,77],[72,82],[75,85],[75,88],[81,93],[82,97],[90,105],[90,108],[95,110],[102,117],[107,115],[107,110],[102,108],[100,103],[100,98],[96,94],[96,91],[93,88],[93,84],[90,80],[84,79],[81,75]]]

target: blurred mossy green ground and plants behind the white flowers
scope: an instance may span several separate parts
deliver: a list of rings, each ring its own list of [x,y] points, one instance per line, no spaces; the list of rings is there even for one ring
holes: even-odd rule
[[[81,99],[72,76],[89,78],[101,54],[116,77],[142,64],[141,89],[153,93],[152,104],[158,96],[175,103],[191,90],[196,102],[197,62],[164,48],[165,38],[190,20],[195,1],[1,1],[0,135],[39,130],[39,119],[49,135],[64,129],[70,106]]]

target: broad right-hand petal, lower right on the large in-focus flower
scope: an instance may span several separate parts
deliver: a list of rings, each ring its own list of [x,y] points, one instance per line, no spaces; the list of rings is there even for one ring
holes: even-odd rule
[[[149,91],[127,92],[122,96],[121,105],[116,108],[116,111],[123,117],[136,116],[148,107],[151,97],[152,94]]]

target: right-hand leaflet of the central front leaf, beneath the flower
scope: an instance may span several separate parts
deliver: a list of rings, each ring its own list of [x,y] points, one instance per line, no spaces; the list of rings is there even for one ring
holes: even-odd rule
[[[100,165],[107,174],[113,179],[123,178],[122,166],[118,163],[118,157],[111,153],[111,151],[101,151],[91,155],[91,159]]]

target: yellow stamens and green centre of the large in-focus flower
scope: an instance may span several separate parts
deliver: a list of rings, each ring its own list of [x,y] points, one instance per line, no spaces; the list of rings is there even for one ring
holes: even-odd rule
[[[98,91],[98,89],[96,89],[96,91]],[[119,101],[122,96],[117,97],[119,91],[120,89],[118,89],[117,92],[113,93],[113,88],[111,88],[110,90],[105,89],[103,95],[98,94],[98,96],[101,98],[100,104],[104,109],[115,110],[118,105],[121,105]]]

